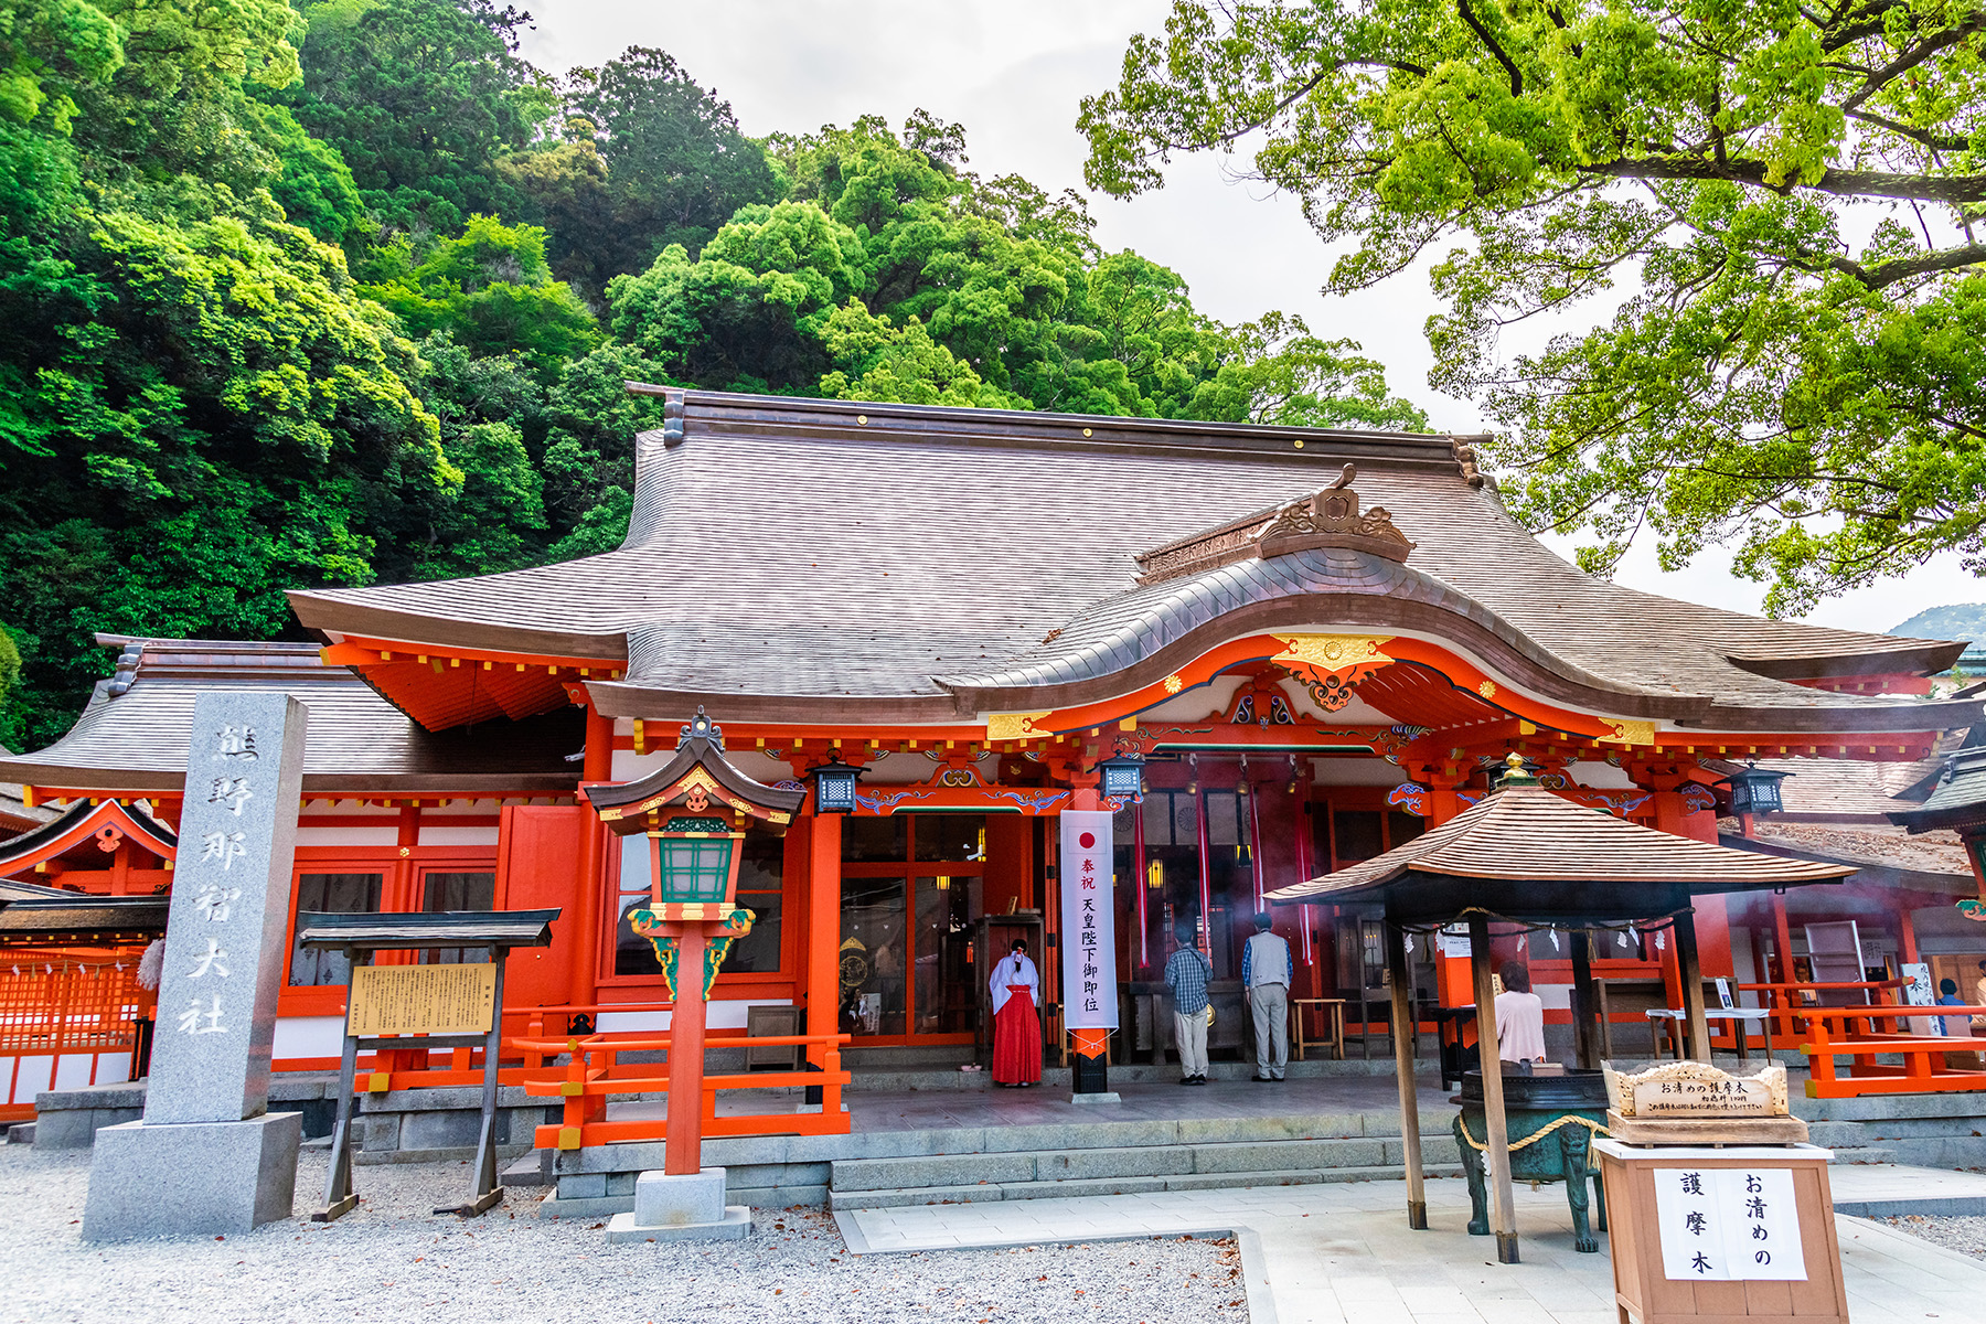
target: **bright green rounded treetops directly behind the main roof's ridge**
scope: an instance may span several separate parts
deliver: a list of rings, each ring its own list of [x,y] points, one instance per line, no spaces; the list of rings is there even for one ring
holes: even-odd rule
[[[963,171],[922,111],[775,139],[792,199],[691,258],[608,284],[612,333],[675,381],[733,391],[1140,417],[1426,427],[1350,341],[1295,318],[1229,328],[1186,282],[1102,254],[1074,195]]]

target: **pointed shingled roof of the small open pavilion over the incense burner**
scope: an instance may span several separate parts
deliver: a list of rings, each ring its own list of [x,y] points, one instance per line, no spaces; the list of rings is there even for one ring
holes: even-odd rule
[[[1654,909],[1623,907],[1613,899],[1656,897],[1652,889],[1672,889],[1686,899],[1692,891],[1797,887],[1841,881],[1849,873],[1853,865],[1710,846],[1589,810],[1543,786],[1505,784],[1406,846],[1281,887],[1269,899],[1384,899],[1388,911],[1446,913],[1476,905],[1505,917],[1613,909],[1650,915],[1672,907],[1658,899]]]

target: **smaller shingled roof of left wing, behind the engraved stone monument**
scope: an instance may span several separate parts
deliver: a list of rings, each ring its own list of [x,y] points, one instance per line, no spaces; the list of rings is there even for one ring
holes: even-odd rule
[[[207,689],[282,689],[310,709],[308,794],[546,796],[578,788],[566,754],[584,742],[576,709],[429,732],[346,667],[326,667],[314,643],[131,639],[117,673],[60,740],[0,760],[0,776],[119,796],[179,796],[187,782],[193,703]]]

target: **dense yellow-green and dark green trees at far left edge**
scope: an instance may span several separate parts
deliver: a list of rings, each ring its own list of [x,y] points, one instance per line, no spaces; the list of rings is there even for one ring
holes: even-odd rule
[[[244,83],[294,77],[288,8],[103,12],[117,58],[46,62],[34,115],[0,121],[0,601],[28,744],[101,675],[93,631],[282,635],[284,588],[405,564],[401,520],[369,512],[461,486],[413,345],[268,191],[282,137]]]

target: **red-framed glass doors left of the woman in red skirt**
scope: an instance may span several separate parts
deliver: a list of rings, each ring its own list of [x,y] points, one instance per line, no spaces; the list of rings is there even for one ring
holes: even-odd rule
[[[846,820],[842,1032],[872,1046],[973,1042],[985,842],[983,814]]]

